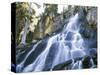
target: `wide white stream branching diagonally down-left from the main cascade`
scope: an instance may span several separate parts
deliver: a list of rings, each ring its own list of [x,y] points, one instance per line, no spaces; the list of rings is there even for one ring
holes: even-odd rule
[[[37,59],[30,65],[28,65],[23,72],[29,71],[41,71],[44,68],[46,57],[49,53],[51,45],[56,42],[57,35],[51,37],[48,41],[47,47],[45,50],[37,57]]]

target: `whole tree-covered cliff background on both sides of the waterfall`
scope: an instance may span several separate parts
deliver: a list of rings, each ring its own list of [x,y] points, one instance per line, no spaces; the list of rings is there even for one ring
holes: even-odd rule
[[[33,3],[34,4],[34,3]],[[34,4],[39,9],[39,4]],[[80,33],[84,38],[95,37],[89,32],[97,32],[97,8],[86,6],[67,6],[63,7],[63,11],[58,13],[58,6],[56,4],[44,4],[44,12],[36,15],[36,11],[32,4],[17,3],[17,18],[16,18],[16,38],[17,44],[22,41],[25,23],[27,23],[26,43],[31,43],[33,40],[42,39],[58,32],[69,21],[69,18],[76,13],[83,18]],[[20,14],[19,14],[20,13]],[[23,14],[23,15],[22,15]],[[25,18],[27,17],[27,21]],[[81,19],[82,20],[82,19]]]

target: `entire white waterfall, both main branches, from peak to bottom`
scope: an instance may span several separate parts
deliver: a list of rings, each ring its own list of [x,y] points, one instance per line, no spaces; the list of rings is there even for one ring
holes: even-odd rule
[[[46,48],[38,55],[35,61],[23,69],[23,72],[30,71],[42,71],[45,68],[45,62],[47,61],[47,56],[50,53],[50,48],[54,43],[59,44],[57,47],[56,54],[53,56],[53,61],[50,69],[60,63],[63,63],[67,60],[83,57],[84,52],[84,40],[79,33],[80,24],[78,23],[79,15],[78,13],[69,20],[69,23],[65,25],[63,31],[57,35],[54,35],[49,38]],[[29,52],[30,53],[30,52]],[[29,55],[27,54],[27,56]],[[25,62],[24,59],[23,63]],[[34,56],[34,55],[33,55]],[[81,61],[76,63],[81,68]],[[74,67],[75,64],[73,64]],[[21,66],[23,67],[23,66]]]

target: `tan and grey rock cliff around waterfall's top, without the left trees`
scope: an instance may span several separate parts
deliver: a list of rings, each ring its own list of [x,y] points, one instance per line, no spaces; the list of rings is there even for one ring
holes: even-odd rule
[[[40,24],[43,26],[43,32],[39,32],[39,27],[37,27],[37,31],[38,33],[34,33],[34,36],[36,35],[37,37],[39,37],[41,35],[41,37],[45,37],[47,34],[51,35],[53,32],[61,29],[65,23],[68,22],[69,18],[73,15],[75,15],[76,13],[80,13],[81,17],[83,17],[83,25],[82,25],[82,29],[84,30],[82,32],[83,37],[92,37],[92,34],[90,34],[89,32],[93,31],[96,33],[97,30],[97,8],[95,7],[80,7],[80,6],[73,6],[73,7],[68,7],[67,10],[64,10],[64,12],[62,12],[61,14],[59,14],[58,16],[44,16],[46,17],[46,19],[42,18],[42,21],[39,21]],[[83,15],[84,14],[84,15]],[[44,22],[44,23],[41,23]],[[41,29],[41,28],[40,28]],[[36,38],[37,38],[36,37]]]

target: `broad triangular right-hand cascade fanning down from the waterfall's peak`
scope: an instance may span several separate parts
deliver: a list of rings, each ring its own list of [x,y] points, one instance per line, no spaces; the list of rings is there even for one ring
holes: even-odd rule
[[[58,36],[62,39],[59,40],[60,46],[52,67],[69,59],[85,56],[83,46],[84,40],[82,39],[79,33],[80,26],[78,24],[78,17],[78,14],[72,17],[69,20],[68,25],[66,25],[63,32],[61,33],[62,35]],[[70,35],[70,37],[68,38],[68,40],[65,40],[65,38],[68,37],[68,35]],[[69,48],[69,46],[66,45],[66,43],[70,43],[72,45],[71,48]]]

